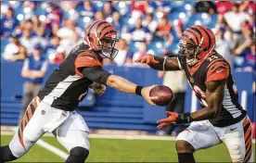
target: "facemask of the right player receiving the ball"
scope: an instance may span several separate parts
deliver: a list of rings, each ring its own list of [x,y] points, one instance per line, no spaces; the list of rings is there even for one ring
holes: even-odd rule
[[[197,55],[201,52],[201,48],[197,44],[187,43],[181,40],[179,43],[179,58],[181,62],[192,67],[198,63]]]

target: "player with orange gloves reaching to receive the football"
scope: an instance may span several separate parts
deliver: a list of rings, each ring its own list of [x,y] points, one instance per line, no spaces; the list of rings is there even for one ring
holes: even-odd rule
[[[198,97],[202,107],[198,111],[166,112],[169,117],[158,120],[159,129],[171,123],[191,123],[177,137],[179,162],[195,162],[195,151],[221,143],[226,145],[234,162],[253,162],[250,119],[238,102],[230,66],[214,51],[214,46],[212,31],[195,25],[184,31],[177,57],[147,55],[135,62],[147,63],[152,69],[184,69],[187,81]]]

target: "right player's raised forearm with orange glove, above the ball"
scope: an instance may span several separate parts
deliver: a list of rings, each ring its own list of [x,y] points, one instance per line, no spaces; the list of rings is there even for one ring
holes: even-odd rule
[[[135,62],[147,63],[147,65],[152,69],[180,70],[178,59],[176,57],[146,55],[138,58]]]

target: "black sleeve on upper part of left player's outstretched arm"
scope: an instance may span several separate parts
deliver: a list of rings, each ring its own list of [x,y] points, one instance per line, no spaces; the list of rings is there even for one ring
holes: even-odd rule
[[[101,67],[87,67],[87,68],[79,68],[79,70],[83,73],[83,76],[88,78],[91,81],[96,81],[97,83],[107,84],[109,76],[111,75],[106,70]]]

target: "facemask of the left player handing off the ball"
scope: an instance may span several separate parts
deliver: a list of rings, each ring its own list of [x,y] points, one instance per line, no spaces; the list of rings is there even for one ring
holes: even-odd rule
[[[98,41],[98,45],[101,51],[100,56],[102,56],[103,58],[109,58],[113,60],[119,52],[119,50],[115,48],[115,44],[118,41],[119,39],[117,37],[105,37]]]

